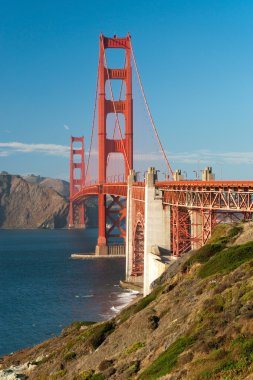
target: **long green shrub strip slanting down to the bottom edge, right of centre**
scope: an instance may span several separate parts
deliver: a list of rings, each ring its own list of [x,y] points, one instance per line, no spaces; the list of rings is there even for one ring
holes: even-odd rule
[[[177,339],[140,374],[139,379],[154,380],[170,373],[177,364],[178,356],[189,348],[195,340],[196,338],[192,336],[183,336]]]

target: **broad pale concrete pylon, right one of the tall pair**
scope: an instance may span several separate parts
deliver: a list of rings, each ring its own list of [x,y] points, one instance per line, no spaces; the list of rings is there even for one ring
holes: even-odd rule
[[[149,168],[145,178],[144,295],[151,283],[165,270],[166,264],[155,248],[170,250],[170,208],[163,207],[162,194],[155,188],[156,170]]]

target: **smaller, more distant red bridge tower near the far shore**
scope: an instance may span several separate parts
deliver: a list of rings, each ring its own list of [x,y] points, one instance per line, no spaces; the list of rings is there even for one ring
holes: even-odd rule
[[[75,143],[79,144],[77,148]],[[84,201],[73,202],[73,196],[85,185],[84,166],[84,137],[70,138],[70,202],[69,202],[69,227],[83,227],[85,225]]]

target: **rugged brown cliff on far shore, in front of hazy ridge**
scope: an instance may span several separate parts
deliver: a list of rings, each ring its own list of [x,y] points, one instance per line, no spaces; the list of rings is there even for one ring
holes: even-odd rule
[[[0,175],[0,228],[62,228],[68,222],[68,207],[51,188]]]

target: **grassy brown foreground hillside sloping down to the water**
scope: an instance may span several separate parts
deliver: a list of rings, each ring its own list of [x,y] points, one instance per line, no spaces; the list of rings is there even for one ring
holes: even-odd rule
[[[5,357],[0,378],[252,379],[252,238],[253,224],[218,226],[150,295],[114,319],[75,322],[59,337]]]

